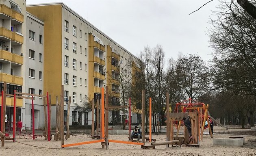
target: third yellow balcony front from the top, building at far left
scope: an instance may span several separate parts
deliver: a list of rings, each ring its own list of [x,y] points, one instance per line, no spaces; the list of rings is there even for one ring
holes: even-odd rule
[[[12,54],[11,52],[7,52],[5,50],[0,50],[0,59],[23,65],[22,56],[19,56],[17,54]]]

